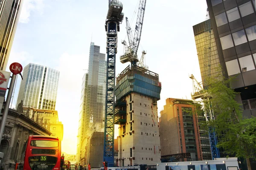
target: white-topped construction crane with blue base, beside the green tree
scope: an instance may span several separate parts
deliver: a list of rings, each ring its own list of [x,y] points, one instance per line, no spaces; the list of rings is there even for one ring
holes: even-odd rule
[[[211,22],[209,11],[207,8],[206,20],[204,24],[204,67],[203,67],[203,81],[198,82],[193,75],[189,78],[192,79],[193,93],[191,94],[192,99],[201,98],[204,101],[204,116],[206,121],[214,120],[214,111],[212,108],[211,95],[205,90],[208,89],[207,79],[211,77]],[[220,158],[219,149],[217,148],[217,136],[214,127],[209,126],[209,141],[212,152],[212,159]]]

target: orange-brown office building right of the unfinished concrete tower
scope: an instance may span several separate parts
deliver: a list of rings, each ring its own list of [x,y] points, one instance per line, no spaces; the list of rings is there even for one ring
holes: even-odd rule
[[[206,121],[195,113],[192,100],[166,99],[160,111],[161,158],[175,157],[177,161],[211,160],[209,136],[199,129],[198,122]]]

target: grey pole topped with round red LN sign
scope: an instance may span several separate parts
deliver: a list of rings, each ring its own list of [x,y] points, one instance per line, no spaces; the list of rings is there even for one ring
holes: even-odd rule
[[[16,80],[16,76],[17,74],[20,74],[22,71],[22,66],[20,65],[20,63],[14,62],[10,65],[10,71],[12,72],[12,80],[9,86],[9,91],[7,94],[7,98],[6,98],[6,104],[3,110],[3,116],[2,116],[2,120],[1,120],[1,124],[0,124],[0,140],[2,141],[2,137],[3,137],[3,130],[6,124],[6,119],[7,119],[7,115],[8,115],[8,111],[9,111],[9,106],[10,106],[10,102],[11,102],[11,98],[12,98],[12,91],[15,85],[15,80]]]

